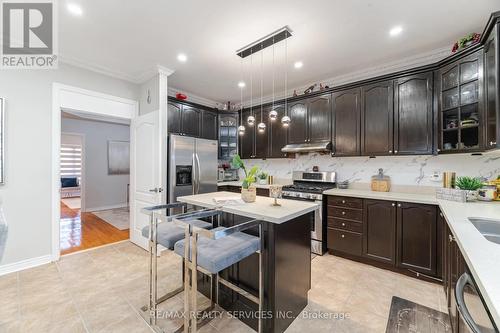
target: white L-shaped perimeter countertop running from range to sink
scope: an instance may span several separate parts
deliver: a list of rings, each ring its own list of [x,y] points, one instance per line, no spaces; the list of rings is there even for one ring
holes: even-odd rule
[[[496,325],[500,327],[500,245],[484,238],[468,220],[468,217],[500,220],[499,202],[463,203],[436,199],[433,194],[374,192],[361,189],[332,189],[324,191],[323,194],[439,205],[488,310]]]

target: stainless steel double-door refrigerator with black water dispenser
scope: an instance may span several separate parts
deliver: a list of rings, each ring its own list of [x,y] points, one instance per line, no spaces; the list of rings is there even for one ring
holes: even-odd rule
[[[217,191],[217,140],[169,136],[169,203],[177,197]]]

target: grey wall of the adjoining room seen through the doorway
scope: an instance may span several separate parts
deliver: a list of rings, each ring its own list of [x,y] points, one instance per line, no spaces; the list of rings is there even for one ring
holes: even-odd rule
[[[130,176],[108,175],[108,141],[130,142],[130,126],[62,118],[61,129],[85,135],[83,211],[126,206]]]

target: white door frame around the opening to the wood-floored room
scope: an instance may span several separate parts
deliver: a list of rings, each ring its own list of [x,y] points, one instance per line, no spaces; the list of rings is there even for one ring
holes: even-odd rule
[[[79,87],[52,84],[52,260],[59,260],[60,254],[60,151],[61,151],[61,108],[78,110],[114,118],[132,119],[139,114],[136,100],[104,94]],[[117,113],[119,110],[119,113]]]

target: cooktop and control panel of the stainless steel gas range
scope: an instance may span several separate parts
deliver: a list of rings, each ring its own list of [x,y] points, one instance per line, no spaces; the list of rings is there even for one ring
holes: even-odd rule
[[[335,188],[335,172],[293,172],[293,185],[283,186],[288,199],[323,200],[323,191]]]

